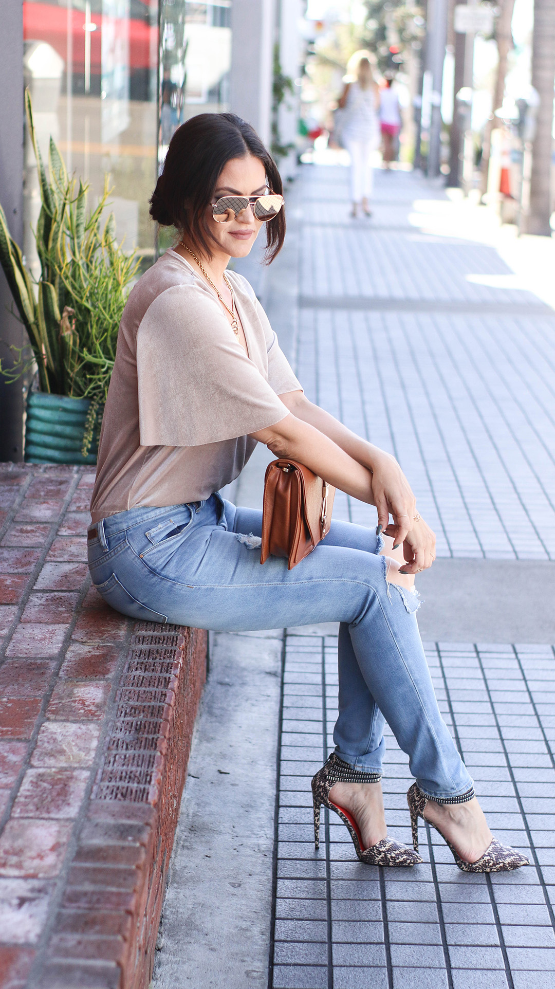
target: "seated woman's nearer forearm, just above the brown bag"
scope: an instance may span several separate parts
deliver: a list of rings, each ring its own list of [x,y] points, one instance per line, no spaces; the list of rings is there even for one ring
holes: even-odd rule
[[[334,488],[374,504],[369,470],[312,423],[289,414],[276,425],[260,429],[252,436],[276,457],[297,460]]]

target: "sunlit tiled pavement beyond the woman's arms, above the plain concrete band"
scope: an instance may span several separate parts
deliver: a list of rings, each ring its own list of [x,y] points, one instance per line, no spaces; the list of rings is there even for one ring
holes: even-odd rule
[[[353,223],[346,169],[305,167],[297,373],[311,399],[391,450],[438,556],[555,558],[555,314],[467,276],[509,268],[485,244],[421,232],[421,179],[378,172]],[[423,223],[423,221],[421,221]],[[371,524],[341,495],[337,517]]]

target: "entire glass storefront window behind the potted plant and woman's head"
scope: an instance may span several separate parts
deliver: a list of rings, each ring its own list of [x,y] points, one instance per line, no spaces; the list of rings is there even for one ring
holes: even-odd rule
[[[229,109],[231,0],[24,0],[25,82],[47,157],[52,135],[69,172],[90,186],[105,177],[118,240],[154,258],[148,200],[175,129],[189,117]],[[28,142],[29,143],[29,142]],[[26,148],[25,240],[40,200]]]

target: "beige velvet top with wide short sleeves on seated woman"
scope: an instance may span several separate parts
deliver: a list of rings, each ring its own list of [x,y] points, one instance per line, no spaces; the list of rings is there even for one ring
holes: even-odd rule
[[[301,388],[248,282],[229,272],[248,356],[214,291],[168,250],[122,317],[91,515],[200,501],[250,457],[248,433],[279,422]]]

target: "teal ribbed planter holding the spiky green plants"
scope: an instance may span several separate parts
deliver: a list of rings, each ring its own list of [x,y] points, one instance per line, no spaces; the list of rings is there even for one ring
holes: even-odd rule
[[[28,464],[96,464],[103,407],[97,412],[89,453],[83,457],[90,399],[30,392],[27,399],[25,459]]]

